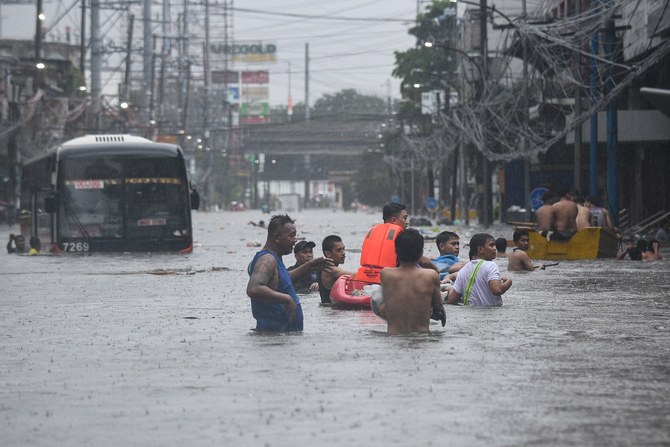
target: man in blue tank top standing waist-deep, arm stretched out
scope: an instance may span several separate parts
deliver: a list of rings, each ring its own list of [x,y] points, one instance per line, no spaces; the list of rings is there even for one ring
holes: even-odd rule
[[[251,313],[258,331],[302,331],[302,307],[291,278],[333,265],[327,258],[316,258],[291,272],[286,270],[281,257],[291,253],[296,235],[293,219],[285,214],[273,216],[268,224],[265,246],[256,253],[247,269],[247,295],[251,298]]]

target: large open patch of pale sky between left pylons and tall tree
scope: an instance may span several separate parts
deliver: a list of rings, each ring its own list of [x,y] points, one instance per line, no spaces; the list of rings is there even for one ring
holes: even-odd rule
[[[414,45],[407,30],[416,17],[416,0],[256,0],[235,6],[267,12],[235,11],[234,37],[277,43],[279,61],[270,66],[271,103],[286,103],[289,63],[293,102],[304,100],[306,43],[312,104],[344,88],[399,97],[399,83],[391,76],[393,53]]]

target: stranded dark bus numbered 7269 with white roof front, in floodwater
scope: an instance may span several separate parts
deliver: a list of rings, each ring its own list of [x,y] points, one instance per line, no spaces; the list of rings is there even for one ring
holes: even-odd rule
[[[21,232],[53,251],[189,253],[198,206],[174,144],[88,135],[23,165]]]

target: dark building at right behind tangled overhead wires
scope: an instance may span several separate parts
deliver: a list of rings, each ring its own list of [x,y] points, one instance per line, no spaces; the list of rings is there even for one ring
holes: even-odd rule
[[[642,88],[670,88],[670,14],[663,14],[666,2],[600,2],[599,10],[592,9],[590,0],[546,0],[540,6],[529,2],[527,21],[518,16],[522,0],[503,3],[496,2],[496,10],[516,22],[509,28],[516,27],[518,33],[510,38],[505,26],[509,20],[494,14],[493,22],[502,26],[496,26],[497,30],[489,27],[489,73],[495,75],[499,70],[499,75],[508,70],[513,79],[518,76],[518,36],[525,34],[534,39],[535,48],[528,50],[527,61],[541,82],[532,85],[526,98],[528,126],[536,137],[528,147],[528,165],[521,157],[499,157],[498,166],[504,165],[504,175],[498,177],[501,208],[523,207],[529,186],[531,191],[577,187],[584,195],[599,197],[616,219],[621,219],[621,225],[670,209],[670,119],[654,106],[653,98],[641,93]],[[477,50],[479,26],[477,8],[468,9],[473,11],[464,16],[466,51],[468,45]],[[595,32],[580,36],[581,30],[591,29],[589,26]],[[559,27],[565,34],[550,34]],[[607,41],[608,31],[611,41]],[[544,43],[546,47],[539,48]],[[540,59],[547,54],[540,55],[540,51],[554,52],[554,60],[544,61],[548,66],[542,66]],[[503,54],[514,57],[506,59]],[[594,73],[595,82],[590,80]],[[595,105],[589,101],[590,82]],[[509,115],[516,112],[510,110]],[[590,116],[597,117],[597,122]],[[581,140],[575,138],[575,126],[581,131],[577,135]],[[553,144],[535,151],[542,146],[541,140]],[[526,181],[528,185],[524,185]]]

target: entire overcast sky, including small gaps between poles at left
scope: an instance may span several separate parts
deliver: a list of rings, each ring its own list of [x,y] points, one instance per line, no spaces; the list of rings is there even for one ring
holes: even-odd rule
[[[32,3],[2,5],[0,31],[3,38],[33,38],[35,6]],[[104,0],[102,3],[105,3]],[[44,0],[46,25],[51,29],[47,40],[54,40],[59,34],[64,39],[66,26],[72,28],[73,39],[77,39],[79,5],[68,10],[73,4],[75,0]],[[221,4],[218,2],[217,6],[212,1],[210,10],[220,13]],[[182,10],[181,5],[182,1],[173,2],[173,20]],[[421,9],[424,7],[425,3],[422,3]],[[198,7],[191,8],[196,14]],[[231,35],[235,41],[263,40],[277,45],[277,63],[235,67],[239,70],[250,68],[270,71],[272,105],[287,102],[289,63],[293,102],[297,104],[304,101],[306,43],[309,44],[310,54],[310,103],[313,104],[323,94],[332,94],[345,88],[380,97],[386,97],[387,94],[399,97],[398,80],[391,76],[395,60],[393,53],[414,45],[414,39],[407,30],[416,17],[417,0],[237,0],[233,8]],[[136,23],[141,20],[137,16],[138,12]],[[153,15],[160,13],[160,3],[154,2]],[[124,46],[123,20],[110,14],[103,12],[103,33],[106,38]],[[56,22],[58,17],[61,19]],[[220,18],[212,15],[212,40],[222,39],[220,21]],[[191,27],[191,32],[200,32],[197,24]],[[141,39],[139,24],[135,37],[136,40]],[[110,62],[110,65],[113,66],[114,62]],[[103,74],[103,83],[107,84],[104,91],[113,94],[118,80],[110,79],[110,76]]]

